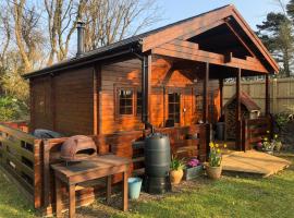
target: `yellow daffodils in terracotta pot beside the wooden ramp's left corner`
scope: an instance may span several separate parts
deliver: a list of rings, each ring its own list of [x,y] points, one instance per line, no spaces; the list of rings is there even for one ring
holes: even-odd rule
[[[206,166],[206,173],[210,179],[217,180],[220,179],[222,167],[222,155],[221,149],[218,144],[209,143],[210,153],[209,153],[209,161]],[[225,148],[226,145],[224,144],[223,147]]]

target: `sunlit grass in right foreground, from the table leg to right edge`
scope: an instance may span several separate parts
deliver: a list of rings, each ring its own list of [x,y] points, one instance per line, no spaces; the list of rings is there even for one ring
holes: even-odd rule
[[[292,161],[294,156],[287,157]],[[294,217],[294,168],[270,177],[199,181],[160,201],[135,203],[132,213],[114,217]]]

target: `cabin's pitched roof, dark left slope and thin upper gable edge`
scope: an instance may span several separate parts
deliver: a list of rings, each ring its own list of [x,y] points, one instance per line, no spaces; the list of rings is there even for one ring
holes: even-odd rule
[[[226,13],[224,13],[224,12],[226,12]],[[56,71],[60,71],[60,70],[62,70],[64,68],[68,68],[70,65],[74,66],[74,65],[78,65],[78,64],[86,64],[86,63],[94,62],[94,61],[105,60],[105,59],[108,58],[109,53],[120,52],[123,49],[126,50],[126,52],[128,50],[128,52],[131,53],[132,48],[136,47],[137,45],[140,46],[142,51],[145,51],[144,49],[146,47],[144,46],[144,44],[145,44],[145,41],[148,41],[148,39],[152,40],[152,38],[150,38],[150,37],[156,36],[157,34],[160,34],[160,33],[164,33],[164,31],[168,31],[170,28],[174,28],[176,26],[184,26],[184,25],[189,24],[189,23],[192,23],[194,21],[196,22],[196,21],[198,21],[198,19],[205,17],[206,15],[209,15],[209,14],[218,15],[219,20],[222,20],[222,19],[226,17],[230,14],[234,14],[235,16],[240,16],[243,24],[246,26],[246,28],[248,28],[248,25],[246,24],[244,19],[240,15],[240,13],[236,11],[235,7],[232,5],[232,4],[228,4],[228,5],[224,5],[224,7],[221,7],[221,8],[218,8],[218,9],[215,9],[215,10],[198,14],[196,16],[192,16],[192,17],[188,17],[188,19],[185,19],[185,20],[182,20],[182,21],[179,21],[179,22],[175,22],[175,23],[172,23],[172,24],[156,28],[154,31],[149,31],[149,32],[136,35],[136,36],[132,36],[130,38],[120,40],[118,43],[114,43],[114,44],[103,46],[103,47],[100,47],[98,49],[85,52],[81,57],[75,57],[75,58],[72,58],[72,59],[68,59],[68,60],[64,60],[62,62],[56,63],[53,65],[37,70],[35,72],[30,72],[28,74],[25,74],[24,77],[29,78],[29,77],[39,76],[39,75],[42,75],[42,74],[48,74],[48,73],[52,73],[52,72],[56,72]],[[258,39],[258,37],[249,28],[247,31],[249,32],[249,34],[253,35],[252,37],[255,37],[255,39],[257,39],[257,46],[259,46],[259,48],[262,50],[262,53],[265,55],[266,60],[268,60],[269,63],[272,65],[272,68],[274,70],[277,70],[278,64],[271,58],[269,51],[265,48],[262,43]],[[176,32],[176,34],[181,34],[181,32]],[[167,40],[168,40],[168,38],[167,38]]]

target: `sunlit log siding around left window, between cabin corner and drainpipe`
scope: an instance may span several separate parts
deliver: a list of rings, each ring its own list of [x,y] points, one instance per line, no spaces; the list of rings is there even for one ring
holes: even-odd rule
[[[143,128],[140,116],[115,116],[115,87],[140,89],[140,61],[137,59],[101,66],[101,133],[133,131]]]

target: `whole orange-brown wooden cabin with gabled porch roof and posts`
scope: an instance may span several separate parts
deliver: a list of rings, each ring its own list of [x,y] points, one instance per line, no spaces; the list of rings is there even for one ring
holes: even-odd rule
[[[223,80],[269,75],[279,65],[234,5],[84,52],[26,74],[30,131],[106,135],[215,123],[222,112]],[[241,148],[241,124],[236,128]]]

